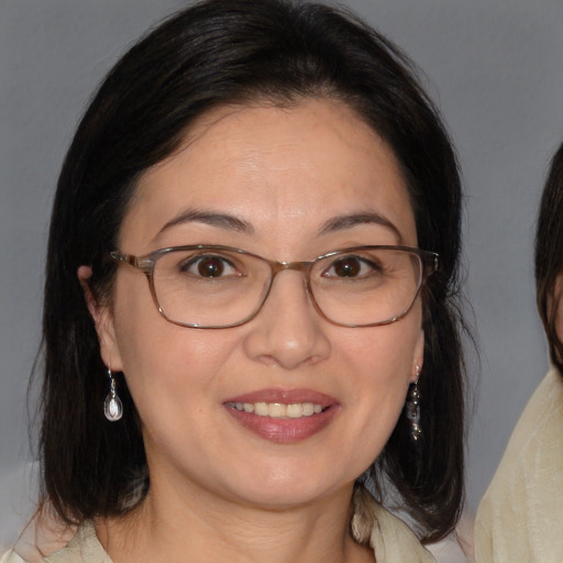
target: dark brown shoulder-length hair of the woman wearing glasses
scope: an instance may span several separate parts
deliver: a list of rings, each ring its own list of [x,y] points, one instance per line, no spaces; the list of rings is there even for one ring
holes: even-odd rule
[[[123,495],[146,465],[122,374],[125,415],[115,423],[103,418],[106,369],[77,268],[91,264],[96,298],[111,294],[114,265],[106,257],[135,181],[178,147],[196,118],[227,103],[303,97],[343,101],[386,140],[402,168],[419,245],[440,254],[423,297],[423,443],[410,442],[402,413],[362,479],[380,500],[390,482],[424,540],[454,527],[464,475],[456,157],[397,47],[352,14],[284,0],[209,0],[172,16],[114,66],[78,126],[53,209],[43,325],[44,495],[63,518],[122,514]]]

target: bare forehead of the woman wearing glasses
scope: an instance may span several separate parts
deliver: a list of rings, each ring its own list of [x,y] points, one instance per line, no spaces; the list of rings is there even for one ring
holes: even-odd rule
[[[291,235],[310,239],[336,216],[379,213],[397,227],[401,242],[416,244],[394,153],[333,100],[228,107],[202,115],[181,147],[141,177],[122,240],[148,243],[192,209],[228,213],[251,225],[256,240],[280,244]]]

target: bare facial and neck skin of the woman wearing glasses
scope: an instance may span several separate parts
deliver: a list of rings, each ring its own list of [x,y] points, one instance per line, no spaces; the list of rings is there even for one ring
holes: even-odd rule
[[[194,209],[252,229],[175,222]],[[321,232],[358,213],[382,221]],[[141,178],[120,251],[199,243],[302,261],[361,244],[417,246],[417,236],[389,147],[341,102],[303,100],[206,114],[183,150]],[[338,327],[314,310],[302,274],[284,272],[246,324],[187,329],[158,313],[145,276],[120,267],[111,307],[90,299],[90,309],[102,357],[125,374],[137,407],[151,475],[137,509],[97,521],[113,561],[374,560],[350,536],[351,495],[422,366],[420,299],[394,324]],[[276,443],[224,407],[265,388],[329,395],[336,413],[306,440]]]

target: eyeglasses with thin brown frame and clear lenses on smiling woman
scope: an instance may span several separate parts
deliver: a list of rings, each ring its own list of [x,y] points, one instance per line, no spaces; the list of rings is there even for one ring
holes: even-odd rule
[[[438,254],[407,246],[355,246],[310,262],[275,262],[219,245],[174,246],[144,256],[111,252],[146,275],[161,314],[180,327],[221,329],[253,319],[275,277],[302,272],[317,311],[341,327],[376,327],[405,317]]]

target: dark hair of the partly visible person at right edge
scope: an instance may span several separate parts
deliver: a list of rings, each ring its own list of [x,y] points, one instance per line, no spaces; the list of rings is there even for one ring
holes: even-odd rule
[[[563,144],[551,162],[538,214],[536,232],[536,291],[538,310],[548,335],[550,357],[563,374],[563,342],[558,334],[558,310],[563,287]],[[561,283],[561,282],[560,282]],[[562,319],[559,319],[561,322]]]

